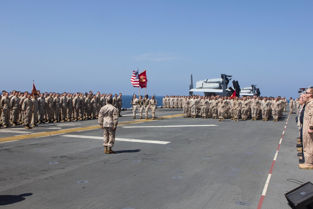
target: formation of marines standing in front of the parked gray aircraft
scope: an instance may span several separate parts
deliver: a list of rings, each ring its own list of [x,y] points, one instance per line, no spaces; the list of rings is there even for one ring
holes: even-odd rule
[[[234,121],[269,120],[278,121],[286,110],[288,102],[285,97],[236,97],[228,96],[165,96],[164,108],[182,108],[184,118],[212,118],[223,121],[230,118]]]

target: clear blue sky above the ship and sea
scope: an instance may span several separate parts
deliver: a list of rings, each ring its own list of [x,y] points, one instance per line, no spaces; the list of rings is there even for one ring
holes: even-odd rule
[[[312,84],[313,1],[0,0],[0,90],[187,95],[232,75],[263,96]],[[144,89],[141,90],[144,92]],[[143,93],[141,93],[143,94]]]

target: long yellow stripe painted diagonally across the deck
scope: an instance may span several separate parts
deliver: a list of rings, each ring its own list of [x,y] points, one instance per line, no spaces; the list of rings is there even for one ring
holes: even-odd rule
[[[183,114],[170,115],[170,116],[165,116],[165,117],[160,117],[160,118],[155,118],[155,119],[159,120],[159,119],[174,118],[174,117],[179,117],[179,116],[183,116]],[[147,122],[147,121],[151,121],[151,120],[152,119],[126,121],[126,122],[119,123],[118,126],[129,125],[129,124],[134,124],[134,123],[142,123],[142,122]],[[27,139],[27,138],[38,138],[38,137],[43,137],[43,136],[52,136],[52,135],[56,135],[56,134],[71,133],[71,132],[76,132],[76,131],[92,130],[92,129],[98,129],[98,128],[100,128],[100,126],[95,125],[95,126],[87,126],[87,127],[80,127],[80,128],[69,128],[69,129],[63,129],[63,130],[57,130],[57,131],[48,131],[48,132],[41,132],[41,133],[30,133],[30,134],[26,134],[26,135],[0,138],[0,143],[9,142],[9,141],[17,141],[17,140]]]

